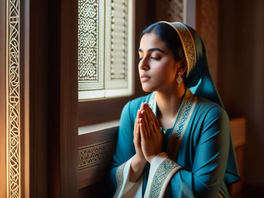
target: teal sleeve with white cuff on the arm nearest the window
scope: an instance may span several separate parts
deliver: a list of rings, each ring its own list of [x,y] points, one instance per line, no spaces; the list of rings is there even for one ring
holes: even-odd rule
[[[109,192],[110,197],[129,197],[136,196],[136,193],[142,193],[140,192],[142,178],[136,183],[129,182],[130,164],[136,153],[133,143],[134,121],[130,112],[130,103],[125,105],[121,113],[116,150],[109,176],[110,189],[112,190]]]

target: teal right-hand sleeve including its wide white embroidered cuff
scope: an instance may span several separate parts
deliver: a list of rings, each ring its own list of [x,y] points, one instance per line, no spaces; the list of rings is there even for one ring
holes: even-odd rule
[[[151,163],[146,192],[151,197],[217,197],[224,179],[229,141],[227,113],[219,106],[211,108],[201,125],[191,171],[161,153]]]

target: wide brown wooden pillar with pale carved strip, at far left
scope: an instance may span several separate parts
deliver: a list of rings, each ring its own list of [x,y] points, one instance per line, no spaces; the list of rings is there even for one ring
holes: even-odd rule
[[[78,2],[0,0],[0,197],[77,196],[77,71]]]

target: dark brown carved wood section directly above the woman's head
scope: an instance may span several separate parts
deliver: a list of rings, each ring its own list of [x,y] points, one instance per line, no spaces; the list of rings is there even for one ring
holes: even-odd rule
[[[184,0],[156,0],[156,21],[183,22]]]

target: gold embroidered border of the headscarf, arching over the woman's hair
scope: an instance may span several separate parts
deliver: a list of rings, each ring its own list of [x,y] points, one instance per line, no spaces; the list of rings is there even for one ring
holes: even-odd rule
[[[169,23],[167,21],[161,21],[161,22],[167,23],[170,26],[172,26],[180,36],[188,65],[187,74],[186,74],[186,77],[188,77],[190,71],[192,70],[196,62],[196,50],[195,50],[195,44],[192,34],[189,31],[189,29],[181,22],[173,22],[173,23]]]

